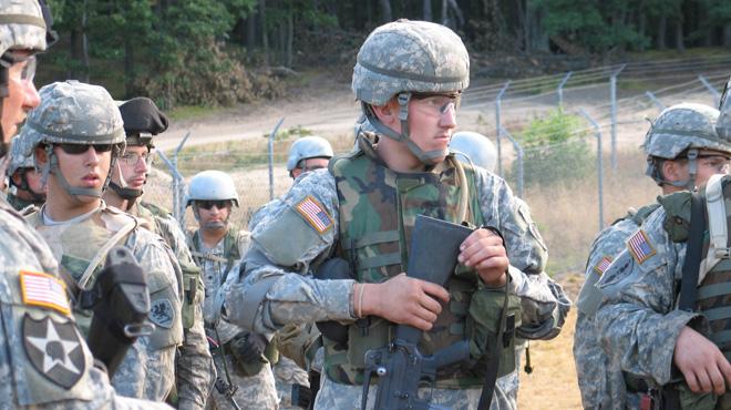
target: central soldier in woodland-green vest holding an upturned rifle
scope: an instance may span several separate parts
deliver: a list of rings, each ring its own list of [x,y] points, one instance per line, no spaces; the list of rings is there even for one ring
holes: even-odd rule
[[[352,86],[378,132],[360,134],[358,150],[270,203],[251,233],[246,274],[226,284],[228,318],[254,331],[321,320],[349,325],[346,350],[325,337],[327,377],[316,408],[360,409],[358,351],[384,347],[393,324],[432,329],[420,345],[426,353],[472,338],[465,322],[495,312],[471,312],[471,300],[484,300],[491,288],[507,286],[512,300],[519,298],[519,336],[547,339],[559,331],[569,303],[543,271],[546,249],[529,215],[517,212],[503,180],[449,155],[469,65],[462,41],[442,25],[400,20],[375,29],[360,49]],[[416,214],[492,225],[505,243],[475,229],[462,244],[460,277],[446,289],[411,278],[402,271]],[[350,260],[357,280],[307,275],[331,255]],[[370,326],[359,329],[356,320],[367,317]],[[485,362],[474,345],[477,365],[464,366],[470,375],[440,371],[432,404],[477,408]],[[370,392],[372,406],[377,387]]]

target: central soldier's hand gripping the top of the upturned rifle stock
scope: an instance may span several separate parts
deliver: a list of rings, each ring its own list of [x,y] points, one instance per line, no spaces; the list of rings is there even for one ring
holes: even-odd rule
[[[477,229],[460,245],[460,264],[473,267],[482,280],[492,287],[505,285],[509,260],[503,239],[490,229]]]

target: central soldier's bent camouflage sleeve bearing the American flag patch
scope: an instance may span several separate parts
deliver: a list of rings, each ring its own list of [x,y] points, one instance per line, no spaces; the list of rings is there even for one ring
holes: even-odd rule
[[[228,320],[259,334],[288,324],[354,320],[353,280],[317,280],[310,264],[330,254],[338,230],[338,197],[327,170],[297,181],[259,212],[246,270],[222,287]],[[234,274],[234,273],[231,273]]]

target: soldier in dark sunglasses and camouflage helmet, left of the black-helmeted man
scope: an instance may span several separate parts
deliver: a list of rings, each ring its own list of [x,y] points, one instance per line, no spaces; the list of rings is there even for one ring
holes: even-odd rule
[[[48,242],[61,273],[90,289],[115,245],[128,247],[147,275],[152,335],[130,347],[112,385],[119,393],[165,400],[175,382],[175,351],[183,341],[179,266],[163,239],[140,221],[101,199],[114,162],[124,151],[116,104],[101,86],[76,81],[41,89],[41,105],[25,121],[20,141],[34,150],[48,185],[48,201],[27,221]],[[92,311],[74,306],[83,332]]]

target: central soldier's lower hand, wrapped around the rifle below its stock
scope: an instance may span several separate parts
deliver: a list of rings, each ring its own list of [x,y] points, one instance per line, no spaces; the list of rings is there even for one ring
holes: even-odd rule
[[[400,325],[430,330],[442,311],[439,300],[449,301],[443,287],[400,274],[381,284],[361,284],[363,315],[374,315]],[[358,301],[358,300],[356,300]]]

